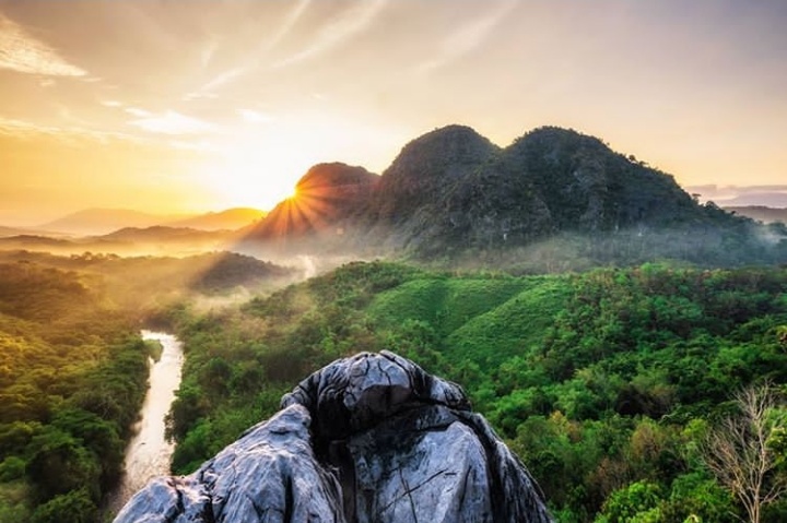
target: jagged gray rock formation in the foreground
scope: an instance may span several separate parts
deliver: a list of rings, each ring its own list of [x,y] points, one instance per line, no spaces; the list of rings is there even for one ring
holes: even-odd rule
[[[461,389],[391,353],[340,359],[197,472],[158,478],[115,523],[550,522]]]

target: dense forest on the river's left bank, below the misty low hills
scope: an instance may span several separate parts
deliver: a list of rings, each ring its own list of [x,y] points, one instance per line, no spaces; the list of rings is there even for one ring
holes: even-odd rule
[[[0,522],[96,520],[146,388],[134,330],[85,275],[0,264]]]

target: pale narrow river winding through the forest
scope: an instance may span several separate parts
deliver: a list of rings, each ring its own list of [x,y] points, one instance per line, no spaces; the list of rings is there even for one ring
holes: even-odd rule
[[[164,332],[142,331],[142,338],[157,340],[163,352],[158,361],[150,360],[150,388],[126,448],[126,474],[108,503],[110,513],[117,513],[150,478],[169,474],[175,447],[164,437],[164,418],[180,385],[183,345]]]

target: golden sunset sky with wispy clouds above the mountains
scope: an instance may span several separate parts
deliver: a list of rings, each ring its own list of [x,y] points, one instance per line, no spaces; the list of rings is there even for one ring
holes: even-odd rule
[[[787,194],[785,26],[784,0],[0,0],[0,225],[271,209],[451,123]]]

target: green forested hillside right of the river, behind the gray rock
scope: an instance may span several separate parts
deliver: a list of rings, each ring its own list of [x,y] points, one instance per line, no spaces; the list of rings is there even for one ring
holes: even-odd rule
[[[310,371],[390,349],[460,383],[563,522],[745,519],[702,450],[736,391],[787,383],[777,268],[513,276],[352,263],[240,307],[181,304],[161,319],[187,355],[168,419],[175,472],[273,413]],[[784,409],[768,416],[784,427]],[[774,433],[768,474],[784,474],[787,438]],[[783,501],[762,521],[785,518]]]

